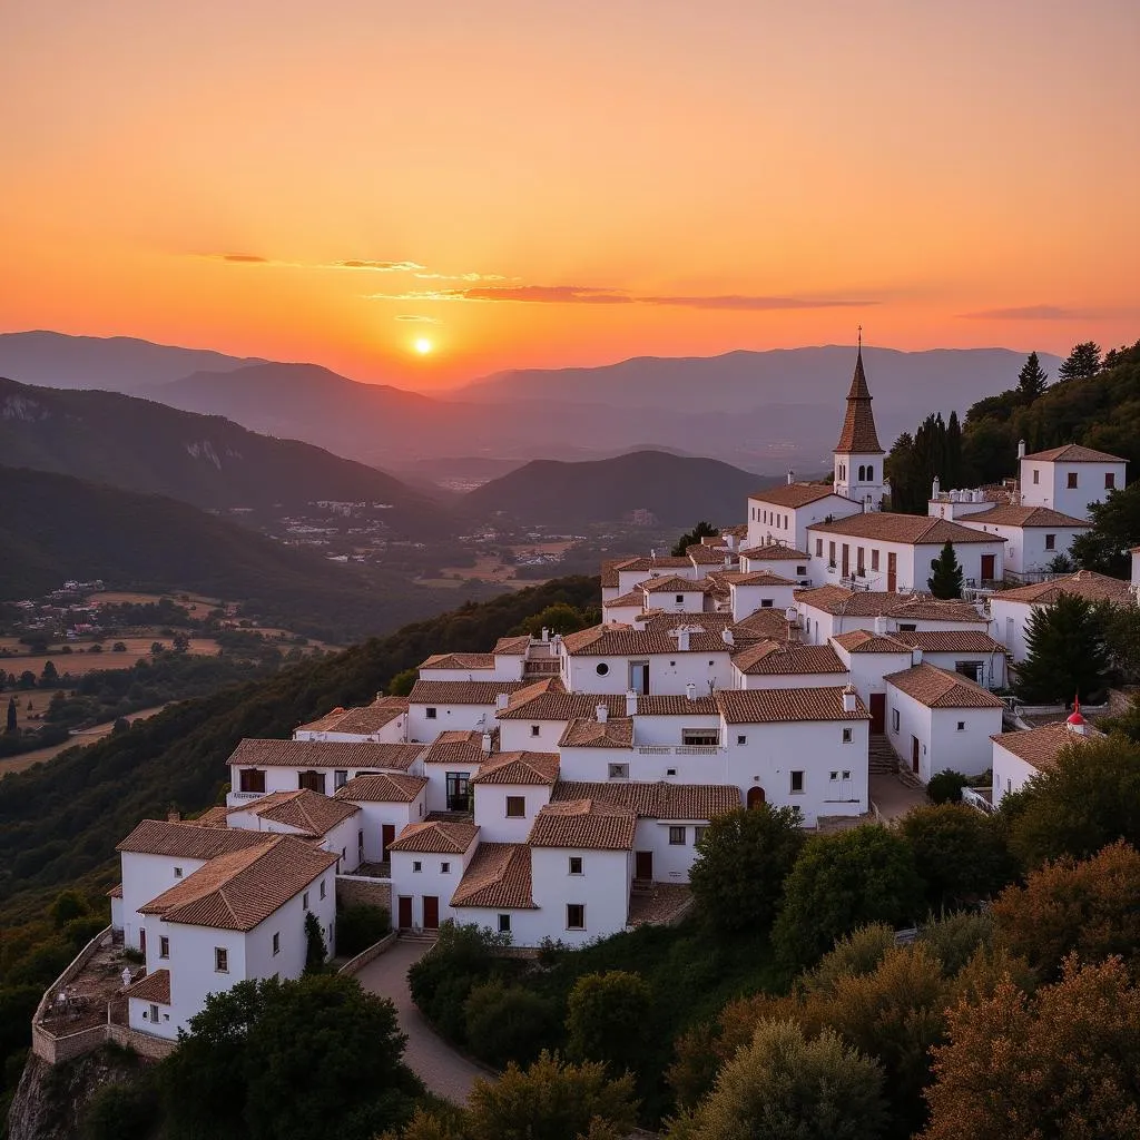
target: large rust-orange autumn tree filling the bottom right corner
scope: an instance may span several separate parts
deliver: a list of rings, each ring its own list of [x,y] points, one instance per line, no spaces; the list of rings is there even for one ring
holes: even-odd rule
[[[1117,958],[1065,963],[1028,997],[1009,978],[950,1011],[921,1140],[1131,1140],[1140,1133],[1140,990]]]

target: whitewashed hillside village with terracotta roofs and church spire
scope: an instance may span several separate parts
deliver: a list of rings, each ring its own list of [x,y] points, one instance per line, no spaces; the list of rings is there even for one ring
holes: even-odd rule
[[[431,656],[406,697],[243,740],[198,819],[139,821],[112,929],[44,994],[33,1048],[160,1056],[209,994],[299,977],[315,930],[334,953],[339,902],[385,907],[405,936],[454,920],[581,946],[684,917],[703,830],[735,808],[889,823],[952,772],[994,811],[1097,735],[1080,693],[1072,710],[1009,695],[1033,616],[1062,594],[1135,605],[1140,579],[1137,553],[1132,583],[1050,569],[1124,459],[1074,445],[1017,463],[1001,486],[933,486],[927,516],[882,510],[860,353],[828,483],[789,473],[684,555],[608,561],[601,624]],[[940,598],[926,587],[947,546],[962,588]],[[137,968],[68,1021],[60,994],[111,947]]]

